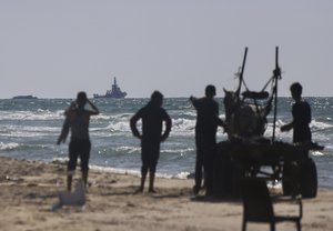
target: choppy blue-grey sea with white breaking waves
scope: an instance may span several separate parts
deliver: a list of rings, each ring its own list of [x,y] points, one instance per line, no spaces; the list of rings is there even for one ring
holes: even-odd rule
[[[220,117],[224,119],[223,99],[215,99]],[[322,151],[310,153],[317,169],[319,187],[333,189],[333,98],[305,98],[312,108],[311,130],[313,141],[324,145]],[[64,163],[68,143],[58,145],[64,120],[64,110],[73,99],[1,99],[0,100],[0,155],[26,160]],[[92,99],[100,114],[91,117],[92,142],[90,168],[118,173],[140,173],[140,141],[132,135],[130,118],[149,99]],[[291,142],[291,132],[280,132],[280,127],[291,121],[291,98],[278,99],[275,140]],[[195,163],[194,127],[196,112],[188,98],[165,98],[163,108],[172,118],[169,139],[161,144],[158,175],[184,179],[193,174]],[[273,112],[264,137],[272,138]],[[139,123],[139,127],[141,124]],[[223,129],[218,141],[226,140]]]

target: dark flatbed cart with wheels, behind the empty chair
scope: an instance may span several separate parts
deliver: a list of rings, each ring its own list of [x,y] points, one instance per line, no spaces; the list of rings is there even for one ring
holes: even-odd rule
[[[302,194],[315,198],[317,191],[316,167],[311,150],[322,150],[317,144],[290,144],[285,142],[223,141],[218,148],[214,192],[219,195],[240,195],[240,179],[263,178],[281,182],[283,194]]]

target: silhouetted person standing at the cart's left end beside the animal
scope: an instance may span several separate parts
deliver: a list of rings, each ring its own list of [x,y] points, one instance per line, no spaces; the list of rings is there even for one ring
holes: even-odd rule
[[[225,128],[225,123],[219,118],[219,104],[213,99],[215,87],[205,88],[205,97],[196,99],[191,97],[190,100],[196,109],[195,124],[195,184],[194,194],[198,194],[202,188],[202,169],[204,171],[204,184],[206,194],[212,193],[214,160],[216,153],[216,130],[218,125]]]

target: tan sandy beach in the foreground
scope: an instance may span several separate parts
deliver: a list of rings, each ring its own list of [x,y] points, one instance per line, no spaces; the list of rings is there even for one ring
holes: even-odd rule
[[[139,178],[91,170],[84,208],[51,211],[58,191],[65,188],[64,165],[0,158],[0,230],[241,230],[241,200],[193,198],[193,180],[160,179],[158,193],[139,193]],[[77,178],[79,174],[75,175]],[[276,207],[278,212],[294,212]],[[332,230],[333,192],[320,189],[315,199],[303,200],[302,230]],[[295,230],[280,223],[278,230]],[[248,230],[269,230],[249,223]]]

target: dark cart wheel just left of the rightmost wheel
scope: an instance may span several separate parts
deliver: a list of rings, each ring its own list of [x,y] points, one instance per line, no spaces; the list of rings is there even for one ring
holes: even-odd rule
[[[282,190],[284,195],[300,193],[300,168],[296,162],[285,162],[282,173]]]

